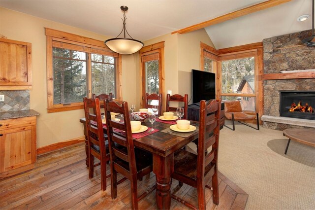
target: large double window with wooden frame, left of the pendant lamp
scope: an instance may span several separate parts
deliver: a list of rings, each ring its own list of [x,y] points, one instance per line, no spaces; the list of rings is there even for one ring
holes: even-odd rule
[[[93,93],[122,100],[119,54],[87,37],[51,29],[46,36],[48,112],[83,108],[83,98]]]

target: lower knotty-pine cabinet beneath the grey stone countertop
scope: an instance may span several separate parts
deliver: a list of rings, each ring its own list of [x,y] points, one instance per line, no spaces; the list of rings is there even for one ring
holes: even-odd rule
[[[0,178],[34,168],[36,116],[0,120]]]

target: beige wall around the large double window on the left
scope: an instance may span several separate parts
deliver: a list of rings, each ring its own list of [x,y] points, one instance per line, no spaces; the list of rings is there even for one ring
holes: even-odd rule
[[[79,119],[84,117],[83,109],[47,113],[46,74],[46,28],[83,35],[98,40],[109,37],[82,29],[37,18],[20,12],[0,8],[0,34],[8,39],[32,43],[33,86],[30,91],[30,107],[40,113],[37,118],[37,147],[83,136],[83,126]],[[123,99],[135,102],[135,55],[123,56]],[[130,79],[131,78],[131,79]],[[129,87],[126,88],[128,84]]]

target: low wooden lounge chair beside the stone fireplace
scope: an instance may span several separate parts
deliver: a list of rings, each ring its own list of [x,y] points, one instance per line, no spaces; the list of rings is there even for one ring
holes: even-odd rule
[[[254,115],[248,115],[242,110],[241,102],[240,101],[225,101],[224,102],[224,115],[225,118],[232,120],[233,129],[224,125],[225,127],[235,131],[235,120],[239,123],[249,126],[253,129],[259,130],[259,117],[258,113],[256,112],[256,116]],[[252,127],[251,125],[245,124],[240,121],[246,121],[246,120],[253,120],[256,118],[257,121],[257,128]]]

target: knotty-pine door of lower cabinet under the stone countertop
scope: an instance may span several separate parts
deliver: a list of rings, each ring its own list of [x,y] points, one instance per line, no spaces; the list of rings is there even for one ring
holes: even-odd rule
[[[8,129],[0,134],[0,173],[22,166],[32,164],[36,161],[36,145],[34,138],[35,126]]]

